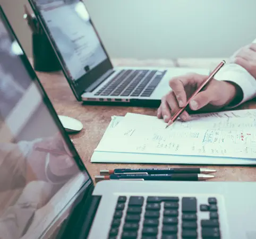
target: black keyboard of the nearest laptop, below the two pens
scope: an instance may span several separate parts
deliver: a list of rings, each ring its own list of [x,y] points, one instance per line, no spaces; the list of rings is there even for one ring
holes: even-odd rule
[[[120,196],[108,238],[220,239],[217,199]]]

